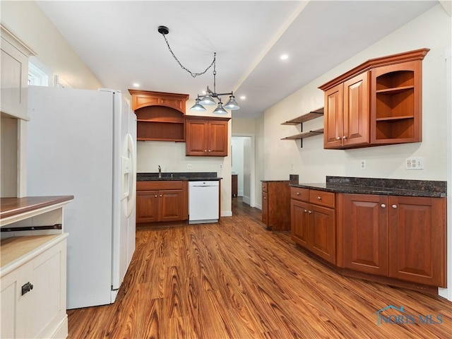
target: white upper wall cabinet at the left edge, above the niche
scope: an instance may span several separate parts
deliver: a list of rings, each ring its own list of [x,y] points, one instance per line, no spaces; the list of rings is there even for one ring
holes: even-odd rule
[[[1,28],[1,112],[27,118],[28,57],[35,55],[3,25]]]

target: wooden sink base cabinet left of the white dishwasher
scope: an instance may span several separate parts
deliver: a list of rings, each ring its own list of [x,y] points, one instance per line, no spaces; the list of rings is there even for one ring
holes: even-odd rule
[[[137,223],[178,221],[187,219],[187,182],[137,182]]]

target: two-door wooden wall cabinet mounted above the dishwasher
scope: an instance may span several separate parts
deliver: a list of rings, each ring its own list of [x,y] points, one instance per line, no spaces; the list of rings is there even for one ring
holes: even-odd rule
[[[186,155],[226,157],[230,118],[185,117]]]

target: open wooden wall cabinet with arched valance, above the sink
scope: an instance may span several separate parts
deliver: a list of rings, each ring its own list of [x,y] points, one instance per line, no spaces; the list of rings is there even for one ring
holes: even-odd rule
[[[185,141],[184,115],[189,95],[129,90],[138,141]]]

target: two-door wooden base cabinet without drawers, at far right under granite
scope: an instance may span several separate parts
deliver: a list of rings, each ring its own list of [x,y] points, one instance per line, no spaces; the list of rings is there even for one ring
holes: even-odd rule
[[[340,201],[340,266],[446,287],[446,198],[340,194]]]

